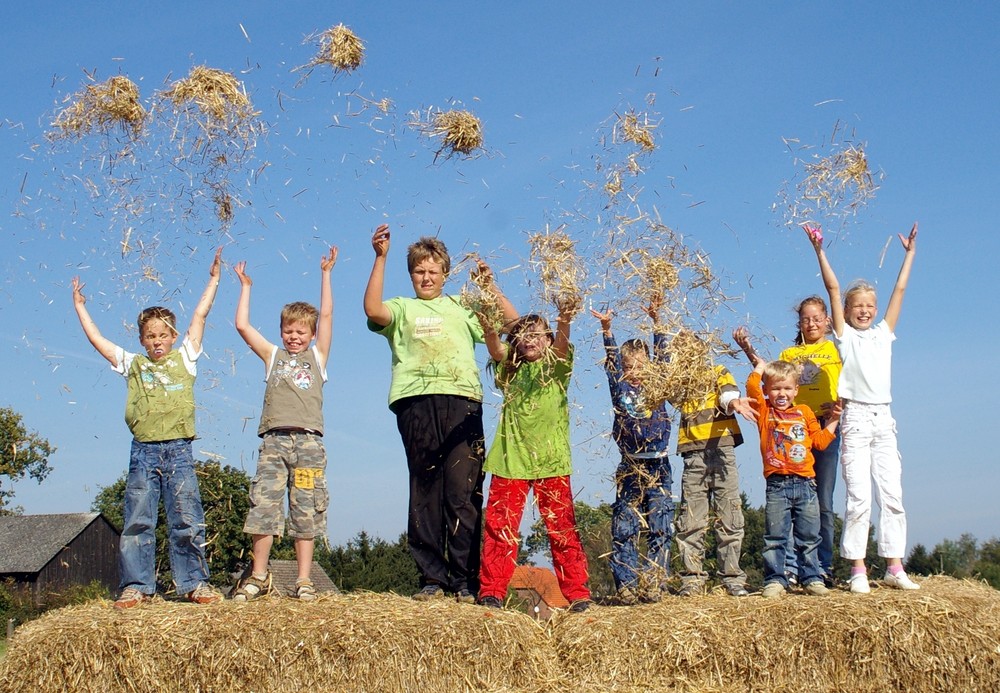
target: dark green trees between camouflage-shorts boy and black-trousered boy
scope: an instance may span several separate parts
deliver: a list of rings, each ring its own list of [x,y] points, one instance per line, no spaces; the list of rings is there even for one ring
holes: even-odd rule
[[[409,596],[420,588],[420,573],[405,533],[389,543],[361,531],[344,546],[322,555],[317,552],[316,560],[345,592],[368,590]]]

